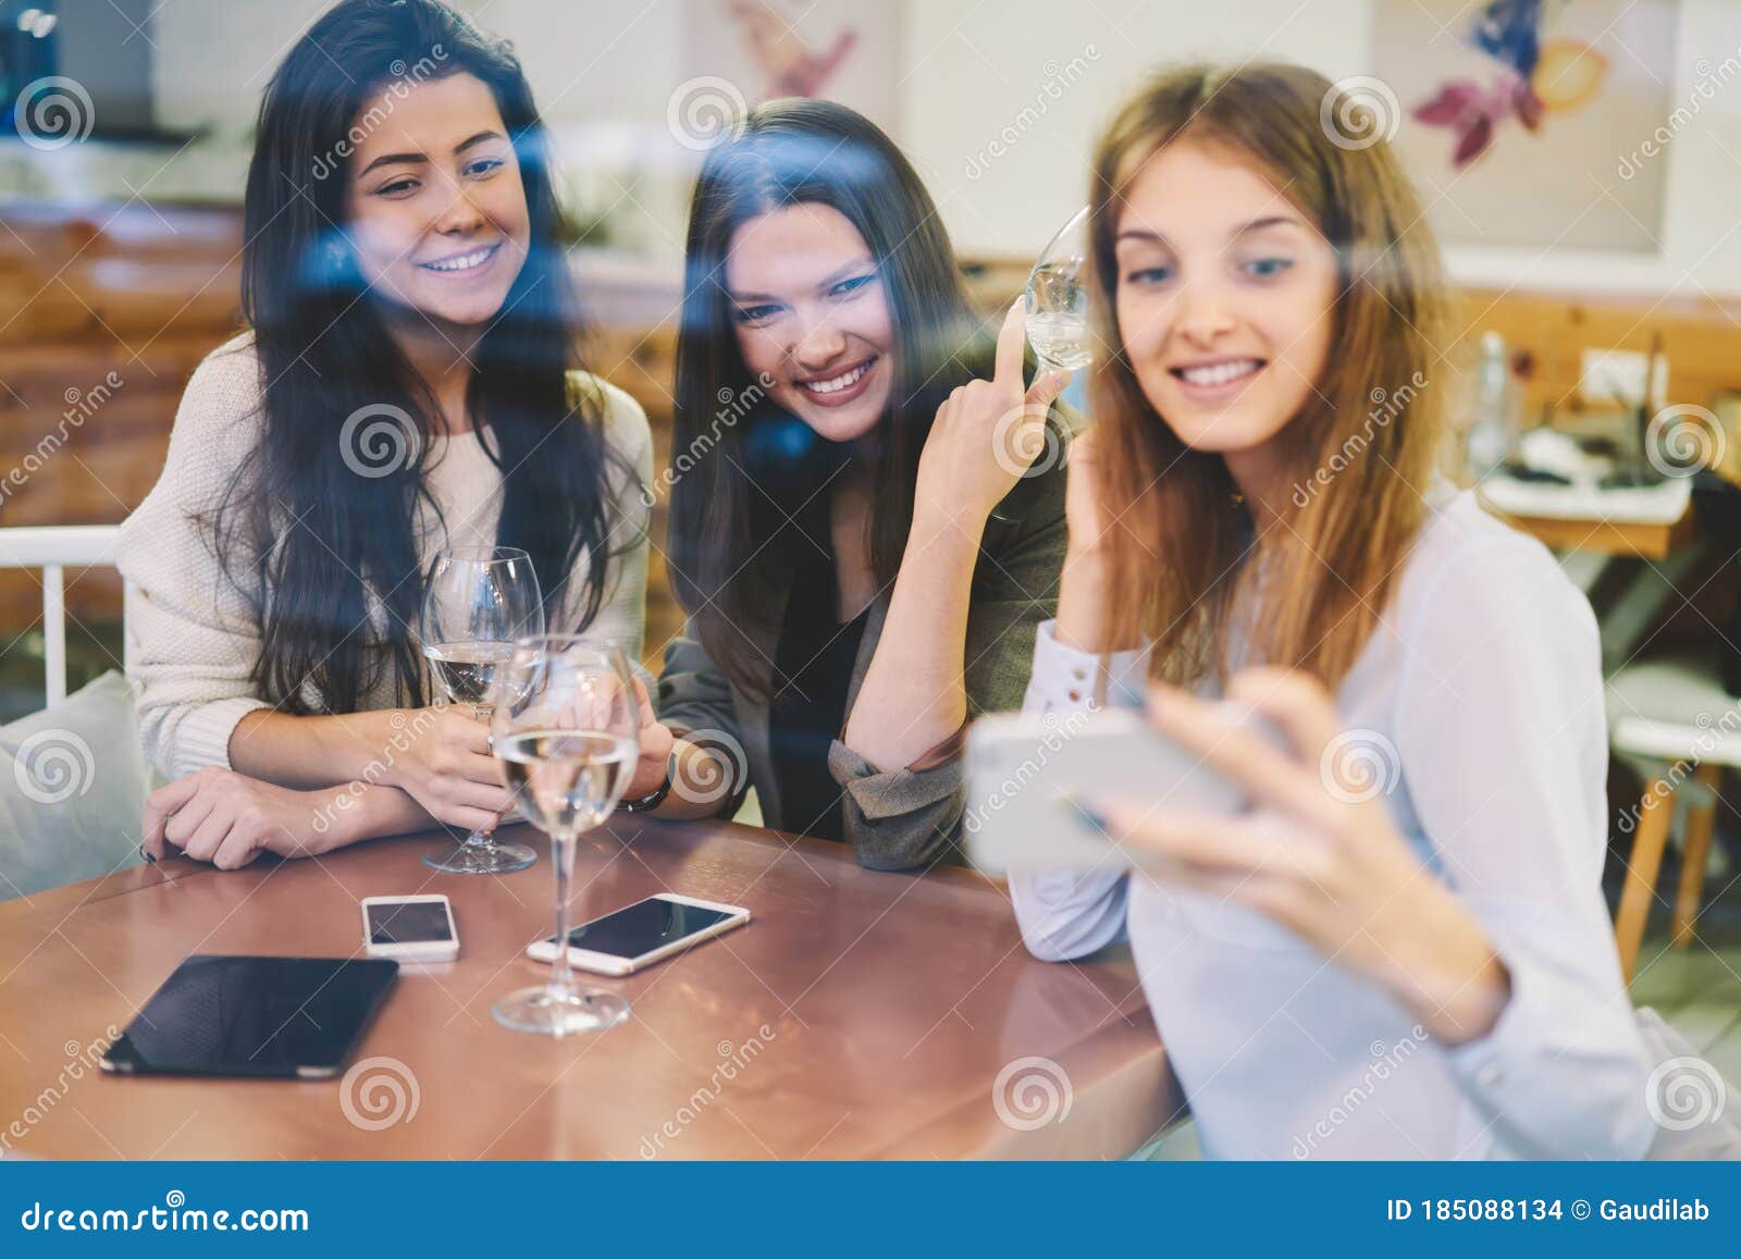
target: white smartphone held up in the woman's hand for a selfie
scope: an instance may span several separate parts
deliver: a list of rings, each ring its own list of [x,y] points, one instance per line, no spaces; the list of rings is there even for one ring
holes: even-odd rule
[[[1252,721],[1280,745],[1267,721]],[[999,712],[968,728],[961,831],[968,858],[987,874],[1137,864],[1083,808],[1112,796],[1191,813],[1245,808],[1238,787],[1137,709]]]

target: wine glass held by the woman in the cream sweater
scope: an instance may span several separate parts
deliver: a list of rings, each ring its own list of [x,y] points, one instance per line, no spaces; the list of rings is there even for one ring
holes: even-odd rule
[[[430,564],[423,592],[423,656],[453,704],[489,721],[491,684],[515,639],[543,634],[543,596],[531,555],[517,547],[449,547]],[[425,853],[442,874],[507,874],[538,860],[526,845],[498,845],[494,827],[458,848]]]

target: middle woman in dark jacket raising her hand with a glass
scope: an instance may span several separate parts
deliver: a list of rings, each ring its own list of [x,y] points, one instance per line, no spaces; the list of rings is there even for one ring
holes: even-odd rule
[[[632,801],[754,785],[768,825],[865,865],[954,850],[961,730],[1020,704],[1064,555],[1067,373],[1025,387],[1022,333],[1018,303],[994,359],[977,341],[930,195],[864,117],[776,101],[709,153],[670,475],[689,625]]]

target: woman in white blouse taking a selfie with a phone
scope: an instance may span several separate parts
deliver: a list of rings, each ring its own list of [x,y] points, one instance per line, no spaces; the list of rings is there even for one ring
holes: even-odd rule
[[[1100,143],[1118,353],[1027,707],[1146,690],[1250,808],[1088,801],[1144,865],[1013,878],[1022,933],[1062,959],[1128,932],[1213,1156],[1637,1158],[1596,629],[1541,545],[1435,484],[1436,247],[1341,104],[1299,68],[1191,68]]]

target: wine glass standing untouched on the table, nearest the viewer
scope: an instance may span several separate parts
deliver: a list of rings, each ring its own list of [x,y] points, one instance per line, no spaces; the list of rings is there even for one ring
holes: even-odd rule
[[[629,656],[575,636],[524,639],[496,670],[494,695],[494,751],[514,803],[550,836],[557,942],[550,980],[498,1001],[496,1022],[548,1036],[602,1031],[629,1017],[629,1001],[575,987],[566,947],[568,885],[580,834],[616,808],[641,751]]]

